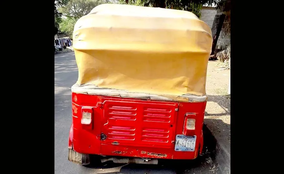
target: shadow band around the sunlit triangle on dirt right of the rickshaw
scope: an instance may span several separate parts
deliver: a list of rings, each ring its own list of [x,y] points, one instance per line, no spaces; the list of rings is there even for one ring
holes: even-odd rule
[[[205,116],[223,116],[231,114],[231,95],[208,95],[207,102],[217,103],[225,112],[208,114],[205,112]],[[207,103],[208,105],[208,103]]]

